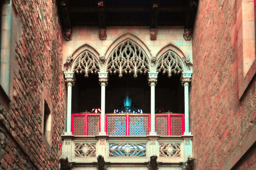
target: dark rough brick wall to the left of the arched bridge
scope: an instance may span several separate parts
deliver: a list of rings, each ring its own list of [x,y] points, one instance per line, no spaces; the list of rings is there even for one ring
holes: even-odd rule
[[[64,131],[64,79],[55,0],[13,0],[13,34],[19,27],[18,40],[11,37],[15,42],[14,51],[11,48],[11,109],[0,105],[0,169],[57,170]],[[50,147],[42,137],[44,100],[52,104]]]

